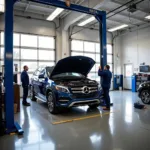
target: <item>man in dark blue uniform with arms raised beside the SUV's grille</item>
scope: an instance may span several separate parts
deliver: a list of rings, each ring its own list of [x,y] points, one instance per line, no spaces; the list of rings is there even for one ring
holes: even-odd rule
[[[104,110],[110,110],[110,96],[109,96],[109,89],[111,86],[111,78],[112,73],[110,72],[110,66],[106,65],[104,67],[104,70],[102,70],[101,66],[98,70],[98,75],[101,77],[101,86],[104,92],[104,99],[106,103],[106,108],[103,108]]]

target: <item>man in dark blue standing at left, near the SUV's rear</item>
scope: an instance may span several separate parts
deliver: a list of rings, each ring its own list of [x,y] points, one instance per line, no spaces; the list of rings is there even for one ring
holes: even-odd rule
[[[21,73],[21,82],[23,87],[23,102],[24,106],[30,106],[30,103],[27,102],[28,97],[28,87],[29,87],[29,75],[27,71],[29,70],[28,66],[23,67],[23,72]]]

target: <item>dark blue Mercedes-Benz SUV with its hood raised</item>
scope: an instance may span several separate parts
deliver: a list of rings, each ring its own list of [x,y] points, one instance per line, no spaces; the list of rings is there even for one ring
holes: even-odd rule
[[[55,67],[39,67],[31,78],[31,99],[46,102],[50,113],[58,112],[59,107],[99,106],[102,90],[95,80],[87,78],[94,64],[89,57],[72,56],[58,61]]]

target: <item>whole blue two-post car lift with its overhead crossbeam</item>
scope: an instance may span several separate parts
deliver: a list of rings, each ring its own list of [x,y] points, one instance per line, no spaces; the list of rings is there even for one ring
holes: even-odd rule
[[[5,118],[6,131],[11,133],[18,131],[23,134],[23,130],[17,122],[14,122],[14,92],[13,92],[13,7],[18,0],[5,0]],[[88,7],[71,4],[67,6],[65,2],[59,0],[30,0],[32,2],[52,5],[72,11],[86,13],[95,16],[100,26],[100,55],[101,66],[107,64],[107,31],[106,31],[106,12],[95,10]]]

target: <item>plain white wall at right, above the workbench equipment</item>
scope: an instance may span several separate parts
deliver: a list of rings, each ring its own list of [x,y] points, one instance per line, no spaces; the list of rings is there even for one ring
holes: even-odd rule
[[[124,64],[132,63],[136,73],[141,63],[150,65],[150,27],[126,33],[119,38],[122,68]]]

